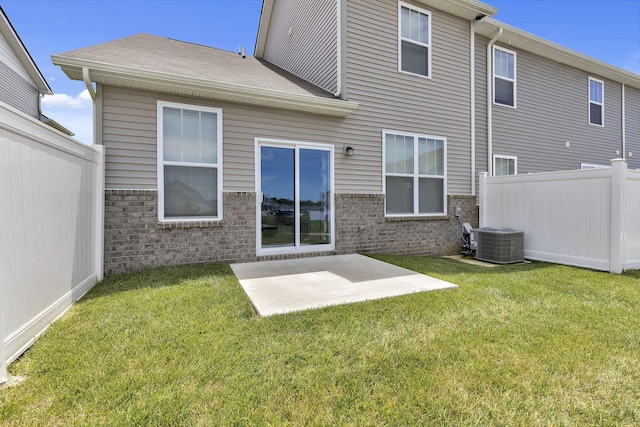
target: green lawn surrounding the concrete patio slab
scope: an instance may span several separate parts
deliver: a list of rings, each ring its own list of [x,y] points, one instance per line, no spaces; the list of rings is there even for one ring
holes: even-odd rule
[[[2,425],[638,425],[640,273],[376,256],[460,286],[269,318],[226,264],[113,276]]]

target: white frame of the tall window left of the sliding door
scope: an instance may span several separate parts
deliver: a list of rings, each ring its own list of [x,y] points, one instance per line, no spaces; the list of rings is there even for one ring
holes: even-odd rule
[[[163,108],[180,108],[186,110],[205,111],[209,113],[215,113],[218,119],[217,125],[217,163],[189,163],[189,162],[174,162],[164,160],[164,132],[163,132]],[[202,222],[202,221],[222,221],[222,109],[213,107],[203,107],[201,105],[181,104],[175,102],[158,101],[157,105],[157,124],[156,132],[158,138],[158,153],[157,153],[157,181],[158,181],[158,220],[160,222]],[[177,165],[177,166],[193,166],[193,167],[208,167],[216,169],[216,180],[218,188],[216,189],[218,198],[218,216],[215,217],[164,217],[164,166],[165,165]]]

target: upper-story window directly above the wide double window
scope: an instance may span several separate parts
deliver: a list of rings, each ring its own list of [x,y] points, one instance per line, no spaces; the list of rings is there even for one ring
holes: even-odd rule
[[[400,71],[431,76],[431,14],[399,3]]]

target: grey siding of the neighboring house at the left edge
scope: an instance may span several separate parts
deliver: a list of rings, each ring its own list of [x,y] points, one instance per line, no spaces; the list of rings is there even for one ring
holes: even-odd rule
[[[0,101],[39,119],[39,96],[35,86],[22,78],[13,68],[0,62]]]

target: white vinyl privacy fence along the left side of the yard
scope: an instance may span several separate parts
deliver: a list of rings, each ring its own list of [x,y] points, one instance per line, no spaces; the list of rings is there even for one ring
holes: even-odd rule
[[[0,382],[102,278],[104,154],[0,103]]]

